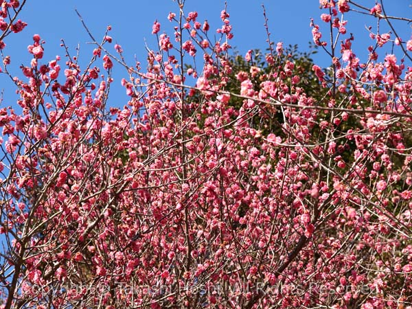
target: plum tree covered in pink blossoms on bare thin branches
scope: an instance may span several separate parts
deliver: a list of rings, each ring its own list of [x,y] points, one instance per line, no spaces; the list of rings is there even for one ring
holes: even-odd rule
[[[25,1],[1,3],[4,49]],[[412,41],[379,32],[411,20],[321,0],[331,65],[305,73],[270,38],[236,67],[229,12],[212,41],[177,3],[146,68],[108,32],[86,67],[33,36],[0,109],[1,308],[412,308]],[[352,10],[377,23],[365,60]]]

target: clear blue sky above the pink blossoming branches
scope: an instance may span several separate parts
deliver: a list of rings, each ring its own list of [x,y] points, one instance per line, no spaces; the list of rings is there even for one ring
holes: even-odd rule
[[[374,0],[359,1],[367,7],[372,7]],[[262,3],[266,7],[268,23],[273,41],[282,41],[285,45],[298,44],[301,50],[308,49],[308,42],[312,40],[310,18],[315,22],[323,24],[324,35],[327,34],[327,27],[319,19],[319,0],[227,0],[230,20],[233,24],[235,34],[232,45],[236,46],[241,54],[248,49],[265,49],[266,32],[264,30],[264,18],[262,14]],[[411,0],[386,0],[386,9],[394,16],[412,17]],[[224,8],[223,0],[187,0],[185,12],[191,10],[198,11],[198,20],[207,19],[211,24],[211,29],[220,27],[220,11]],[[111,25],[113,30],[111,36],[116,43],[122,45],[126,59],[133,63],[135,56],[144,64],[146,61],[145,42],[155,48],[153,41],[152,23],[159,20],[162,30],[170,23],[167,20],[169,12],[177,12],[177,4],[172,0],[129,0],[129,1],[108,1],[108,0],[29,0],[21,14],[21,19],[28,23],[25,30],[19,34],[13,34],[6,38],[8,45],[5,54],[12,56],[12,73],[19,74],[19,65],[28,64],[31,55],[27,53],[27,45],[32,44],[32,35],[40,34],[46,41],[45,57],[43,60],[50,60],[56,54],[65,56],[64,50],[60,47],[60,39],[71,47],[74,54],[75,48],[80,45],[80,60],[87,62],[90,58],[91,45],[87,32],[82,27],[74,9],[82,14],[84,21],[96,38],[101,38],[107,25]],[[352,16],[352,15],[351,15]],[[350,16],[347,16],[350,19]],[[350,19],[352,20],[352,19]],[[348,24],[348,32],[356,32],[358,41],[354,47],[360,47],[365,51],[371,41],[365,40],[367,31],[365,25],[374,25],[371,19],[364,15],[356,14],[352,23]],[[402,38],[411,37],[411,27],[402,24],[399,27]],[[169,32],[172,34],[172,32]],[[362,34],[362,40],[361,36]],[[357,53],[358,56],[362,54]],[[317,55],[321,65],[328,65],[328,58],[322,52]],[[118,70],[118,69],[117,69]],[[123,71],[114,71],[117,84]],[[8,82],[4,76],[0,76],[0,89],[7,88]],[[123,95],[123,89],[120,89]],[[5,89],[5,98],[8,98]],[[125,97],[124,97],[125,98]],[[3,102],[5,104],[6,102]],[[122,104],[121,104],[122,105]]]

